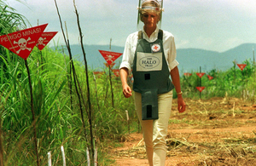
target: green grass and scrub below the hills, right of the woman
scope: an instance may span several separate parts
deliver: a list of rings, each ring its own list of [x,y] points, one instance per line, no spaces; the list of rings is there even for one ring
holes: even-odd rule
[[[227,71],[213,69],[201,77],[202,86],[206,87],[201,92],[202,98],[230,96],[253,101],[255,98],[256,77],[254,62],[249,59],[244,60],[242,63],[247,64],[243,71],[234,64]],[[213,79],[209,80],[207,75],[212,76]],[[199,98],[200,92],[195,89],[195,87],[199,86],[199,77],[195,72],[192,72],[189,77],[182,76],[181,84],[185,97]]]

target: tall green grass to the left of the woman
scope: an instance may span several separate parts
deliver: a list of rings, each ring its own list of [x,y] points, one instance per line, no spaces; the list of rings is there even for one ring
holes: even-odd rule
[[[30,93],[26,67],[20,58],[7,51],[3,56],[5,70],[1,70],[0,92],[3,94],[1,115],[3,120],[3,152],[5,165],[35,165],[35,152],[32,144],[32,115],[30,112]],[[52,152],[53,163],[61,163],[61,145],[67,152],[68,165],[86,163],[85,147],[88,144],[82,134],[82,122],[79,102],[73,93],[73,109],[70,105],[69,87],[67,82],[67,56],[58,51],[44,49],[44,64],[40,66],[40,52],[35,49],[27,59],[32,78],[34,111],[37,118],[38,150],[41,164],[47,163],[47,152]],[[7,62],[8,61],[8,62]],[[84,83],[84,66],[74,61],[82,91],[86,91]],[[107,72],[108,69],[106,69]],[[89,72],[90,80],[94,79]],[[120,139],[125,135],[125,110],[133,111],[132,99],[124,100],[119,78],[113,78],[115,100],[119,105],[112,107],[108,75],[96,77],[90,81],[92,92],[92,109],[95,112],[95,135],[99,150],[99,162],[106,163],[103,157],[106,140]],[[107,93],[108,92],[108,93]],[[8,96],[8,97],[7,97]],[[87,117],[85,119],[88,119]],[[89,130],[86,121],[85,129]],[[107,164],[107,163],[106,163]],[[108,164],[107,164],[108,165]]]

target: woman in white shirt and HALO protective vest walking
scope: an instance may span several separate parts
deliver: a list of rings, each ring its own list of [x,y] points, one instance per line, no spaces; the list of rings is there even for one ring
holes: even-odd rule
[[[164,166],[172,89],[177,92],[178,112],[184,112],[186,106],[180,87],[174,37],[157,26],[161,19],[160,3],[144,0],[139,15],[143,30],[127,37],[119,66],[120,79],[123,94],[128,98],[132,93],[127,77],[132,71],[137,117],[142,125],[148,163],[150,166]]]

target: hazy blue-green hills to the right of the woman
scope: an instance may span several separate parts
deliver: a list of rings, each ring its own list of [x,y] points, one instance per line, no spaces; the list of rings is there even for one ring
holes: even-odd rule
[[[253,47],[256,47],[256,43],[244,43],[223,53],[203,49],[177,49],[179,69],[183,72],[199,71],[201,66],[204,72],[212,69],[225,71],[234,66],[234,60],[237,63],[253,60]]]

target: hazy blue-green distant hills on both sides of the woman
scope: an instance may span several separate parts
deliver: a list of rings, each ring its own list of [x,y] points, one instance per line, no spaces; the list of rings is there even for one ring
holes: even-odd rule
[[[227,50],[223,53],[209,51],[204,49],[177,49],[177,61],[180,63],[180,72],[199,71],[200,66],[202,72],[208,72],[212,69],[225,71],[233,66],[233,61],[242,63],[244,60],[253,60],[253,47],[256,48],[256,43],[244,43],[234,49]],[[82,51],[79,45],[71,46],[73,57],[83,61]],[[102,70],[106,61],[102,58],[102,54],[98,50],[109,50],[108,45],[85,45],[86,60],[91,69],[97,71]],[[111,51],[123,53],[124,48],[112,46]],[[113,68],[118,68],[122,56],[115,60],[116,65]]]

